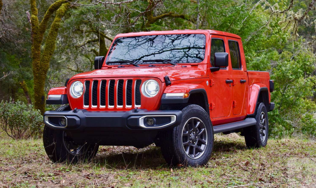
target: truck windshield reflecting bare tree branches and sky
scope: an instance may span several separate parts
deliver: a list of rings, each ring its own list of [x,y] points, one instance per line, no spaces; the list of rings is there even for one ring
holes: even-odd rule
[[[205,55],[204,34],[149,35],[117,38],[106,63],[130,61],[136,64],[164,63],[146,60],[167,60],[173,63],[199,63]],[[143,62],[143,60],[145,60]]]

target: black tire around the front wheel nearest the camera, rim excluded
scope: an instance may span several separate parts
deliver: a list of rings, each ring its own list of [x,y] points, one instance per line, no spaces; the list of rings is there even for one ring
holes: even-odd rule
[[[184,128],[184,126],[187,123],[187,121],[191,120],[192,118],[197,118],[201,120],[202,123],[204,124],[206,133],[207,133],[206,144],[204,146],[205,150],[201,152],[200,156],[196,159],[189,157],[185,152],[185,149],[184,149],[185,146],[183,146],[184,138],[183,138],[182,133],[186,129]],[[190,139],[190,137],[188,138]],[[213,126],[210,121],[209,115],[205,112],[205,110],[201,106],[198,106],[195,104],[190,104],[190,105],[185,106],[182,109],[182,121],[180,125],[174,127],[173,129],[169,129],[165,132],[161,132],[160,141],[161,141],[162,155],[169,165],[195,167],[195,166],[207,164],[207,162],[209,161],[211,157],[213,145],[214,145]],[[197,141],[197,144],[198,144],[198,141]],[[190,147],[191,146],[189,146],[189,148]]]

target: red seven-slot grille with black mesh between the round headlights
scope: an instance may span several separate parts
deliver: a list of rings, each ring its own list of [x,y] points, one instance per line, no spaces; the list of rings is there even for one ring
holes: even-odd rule
[[[87,80],[84,82],[83,106],[85,108],[122,108],[123,106],[131,108],[133,105],[140,107],[141,83],[140,79]],[[91,88],[90,84],[92,84]]]

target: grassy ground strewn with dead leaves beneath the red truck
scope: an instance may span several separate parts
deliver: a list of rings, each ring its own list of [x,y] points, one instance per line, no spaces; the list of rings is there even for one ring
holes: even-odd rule
[[[316,143],[216,136],[204,167],[169,167],[160,148],[102,146],[93,162],[54,164],[41,140],[0,141],[0,187],[316,187]]]

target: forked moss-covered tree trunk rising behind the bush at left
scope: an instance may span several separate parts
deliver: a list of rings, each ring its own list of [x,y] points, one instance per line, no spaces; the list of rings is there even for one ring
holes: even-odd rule
[[[46,11],[43,19],[39,22],[36,0],[30,0],[31,3],[31,26],[32,26],[32,65],[34,77],[34,106],[43,114],[45,111],[45,79],[49,68],[49,62],[55,50],[55,43],[60,26],[66,10],[69,7],[67,0],[58,0],[53,3]],[[50,27],[46,40],[43,41],[44,34],[48,27],[48,21],[52,14],[56,12],[56,16]],[[44,50],[41,46],[44,44]]]

